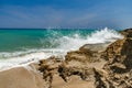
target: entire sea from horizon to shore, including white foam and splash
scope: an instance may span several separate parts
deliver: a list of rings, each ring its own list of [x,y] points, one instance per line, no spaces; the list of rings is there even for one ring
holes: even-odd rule
[[[111,29],[0,29],[0,70],[121,38]]]

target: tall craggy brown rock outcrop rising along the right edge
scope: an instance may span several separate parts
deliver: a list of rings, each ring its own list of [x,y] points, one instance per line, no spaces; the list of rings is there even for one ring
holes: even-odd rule
[[[103,66],[107,75],[99,77],[108,85],[105,88],[132,88],[132,29],[121,33],[124,38],[110,44],[102,54],[108,61]]]

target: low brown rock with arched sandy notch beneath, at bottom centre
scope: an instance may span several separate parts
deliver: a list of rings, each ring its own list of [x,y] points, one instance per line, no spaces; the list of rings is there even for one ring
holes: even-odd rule
[[[81,66],[61,65],[58,68],[59,76],[67,82],[73,75],[79,76],[82,80],[88,80],[94,75],[92,68]]]

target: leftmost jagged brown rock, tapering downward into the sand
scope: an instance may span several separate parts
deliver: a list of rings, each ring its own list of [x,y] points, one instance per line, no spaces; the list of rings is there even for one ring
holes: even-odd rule
[[[53,76],[58,74],[58,66],[62,64],[62,59],[55,56],[52,56],[47,59],[40,61],[40,68],[38,70],[43,73],[43,79],[47,84],[47,88],[52,88]]]

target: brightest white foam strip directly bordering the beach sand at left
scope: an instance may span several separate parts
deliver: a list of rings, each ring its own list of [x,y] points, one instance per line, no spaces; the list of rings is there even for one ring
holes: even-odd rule
[[[58,53],[59,52],[59,53]],[[46,59],[52,55],[61,55],[59,50],[45,50],[37,51],[34,53],[25,54],[25,55],[15,55],[13,57],[8,57],[4,59],[0,59],[0,70],[10,69],[12,67],[26,66],[31,63],[37,63],[40,59]],[[14,54],[13,54],[14,55]]]

